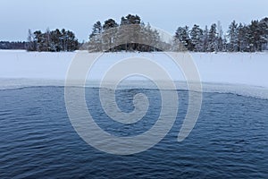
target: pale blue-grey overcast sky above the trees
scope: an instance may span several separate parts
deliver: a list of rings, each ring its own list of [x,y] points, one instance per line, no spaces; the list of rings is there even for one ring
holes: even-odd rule
[[[138,14],[145,23],[170,33],[179,26],[202,28],[217,21],[249,23],[268,16],[268,0],[0,0],[0,41],[26,40],[28,30],[72,30],[87,40],[96,21]]]

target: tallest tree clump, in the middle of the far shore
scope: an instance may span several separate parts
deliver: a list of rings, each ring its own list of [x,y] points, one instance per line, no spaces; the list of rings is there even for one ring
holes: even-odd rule
[[[139,43],[134,43],[134,42]],[[149,24],[145,25],[138,15],[121,17],[117,23],[108,19],[102,24],[96,21],[89,35],[88,50],[99,51],[158,51],[164,46],[159,32],[153,30]],[[157,45],[157,46],[155,46]]]

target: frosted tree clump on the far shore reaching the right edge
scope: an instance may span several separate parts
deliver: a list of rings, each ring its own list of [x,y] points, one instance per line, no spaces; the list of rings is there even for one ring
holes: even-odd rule
[[[202,30],[198,25],[192,29],[179,27],[175,38],[189,50],[195,52],[255,52],[268,49],[268,18],[251,21],[250,24],[232,21],[224,35],[221,23],[212,24]]]

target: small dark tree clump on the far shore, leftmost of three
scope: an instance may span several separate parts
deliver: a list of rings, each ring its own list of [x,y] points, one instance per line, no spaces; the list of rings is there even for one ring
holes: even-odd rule
[[[28,51],[74,51],[79,49],[79,41],[74,33],[70,30],[36,30],[31,32],[29,30],[28,43],[26,49]]]

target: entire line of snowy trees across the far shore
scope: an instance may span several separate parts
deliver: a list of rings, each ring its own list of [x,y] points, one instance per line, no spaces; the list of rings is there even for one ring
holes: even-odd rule
[[[138,43],[134,43],[137,42]],[[121,17],[120,22],[108,19],[96,21],[89,32],[88,41],[80,43],[71,30],[29,30],[26,42],[0,41],[0,49],[26,49],[28,51],[192,51],[192,52],[260,52],[268,50],[268,17],[249,24],[231,21],[226,32],[221,21],[193,27],[178,27],[171,41],[166,42],[158,30],[145,24],[136,14]]]

